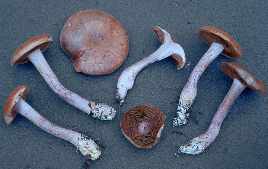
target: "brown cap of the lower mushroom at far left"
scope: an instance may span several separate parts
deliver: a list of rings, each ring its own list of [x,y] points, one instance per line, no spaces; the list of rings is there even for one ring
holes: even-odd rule
[[[28,86],[19,86],[8,96],[3,107],[3,118],[7,124],[10,124],[18,114],[14,108],[20,99],[26,100],[30,88]]]

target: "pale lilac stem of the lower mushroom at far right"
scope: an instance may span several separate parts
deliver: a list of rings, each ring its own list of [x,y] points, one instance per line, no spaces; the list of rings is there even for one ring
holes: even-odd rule
[[[246,86],[244,86],[239,80],[234,79],[230,90],[220,104],[220,107],[215,113],[207,131],[205,131],[205,133],[201,134],[200,136],[193,138],[187,144],[180,146],[179,153],[182,152],[186,154],[199,154],[205,151],[205,149],[218,136],[223,119],[234,104],[236,98],[245,89],[245,87]]]

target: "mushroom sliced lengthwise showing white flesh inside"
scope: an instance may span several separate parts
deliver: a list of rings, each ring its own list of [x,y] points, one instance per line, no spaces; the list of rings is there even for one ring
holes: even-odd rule
[[[136,75],[148,64],[157,60],[160,61],[170,55],[172,55],[178,69],[181,69],[185,64],[184,50],[172,37],[172,35],[160,27],[154,27],[153,30],[159,36],[160,41],[163,44],[153,54],[147,56],[137,63],[132,64],[120,75],[117,82],[116,94],[120,105],[124,102],[124,97],[127,94],[127,90],[132,88]]]

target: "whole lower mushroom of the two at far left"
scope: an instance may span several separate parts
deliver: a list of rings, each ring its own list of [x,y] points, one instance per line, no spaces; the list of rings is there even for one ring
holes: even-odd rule
[[[8,125],[19,113],[44,131],[72,143],[87,159],[99,158],[101,154],[99,146],[90,137],[51,123],[28,105],[25,100],[29,90],[28,86],[19,86],[8,96],[3,107],[3,118]]]

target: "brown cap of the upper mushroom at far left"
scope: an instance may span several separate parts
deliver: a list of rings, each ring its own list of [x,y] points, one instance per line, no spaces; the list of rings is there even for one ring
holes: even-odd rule
[[[40,49],[41,52],[45,51],[48,46],[52,44],[53,40],[51,35],[44,34],[39,35],[34,38],[29,39],[24,44],[20,45],[18,49],[14,52],[11,58],[11,66],[16,66],[17,64],[24,64],[30,61],[27,56],[35,51],[36,49]]]

